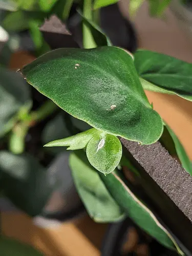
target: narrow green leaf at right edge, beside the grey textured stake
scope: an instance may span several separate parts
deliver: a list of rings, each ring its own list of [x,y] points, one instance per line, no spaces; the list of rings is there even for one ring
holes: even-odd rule
[[[169,133],[169,135],[172,137],[174,144],[175,144],[175,150],[177,152],[177,155],[179,157],[179,160],[181,161],[181,165],[183,168],[186,170],[187,173],[189,173],[192,176],[192,166],[190,163],[190,159],[187,156],[187,153],[185,152],[185,149],[181,142],[179,141],[178,137],[174,133],[174,131],[167,125],[165,124],[165,127]],[[165,144],[166,148],[166,144]]]

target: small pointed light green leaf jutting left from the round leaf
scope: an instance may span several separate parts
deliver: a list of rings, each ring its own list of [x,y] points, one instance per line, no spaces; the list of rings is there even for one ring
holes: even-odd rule
[[[59,139],[55,141],[51,141],[44,146],[52,147],[52,146],[69,146],[67,150],[81,150],[82,148],[86,147],[88,142],[97,134],[98,131],[94,128],[78,133],[74,136]]]

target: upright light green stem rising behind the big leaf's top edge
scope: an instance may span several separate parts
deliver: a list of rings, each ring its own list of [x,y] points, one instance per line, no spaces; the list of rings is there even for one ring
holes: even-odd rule
[[[92,0],[83,1],[83,16],[89,20],[93,20],[93,11],[92,11]],[[91,49],[96,48],[96,42],[93,38],[90,27],[86,22],[83,21],[82,25],[82,35],[83,35],[83,48]]]

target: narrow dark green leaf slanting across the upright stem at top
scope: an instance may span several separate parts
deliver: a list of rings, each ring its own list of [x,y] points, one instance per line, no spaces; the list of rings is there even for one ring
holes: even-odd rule
[[[83,23],[89,27],[97,47],[112,46],[110,38],[104,34],[104,32],[100,29],[99,26],[97,26],[97,24],[95,24],[91,19],[84,17],[80,10],[78,10],[78,13],[81,15]]]

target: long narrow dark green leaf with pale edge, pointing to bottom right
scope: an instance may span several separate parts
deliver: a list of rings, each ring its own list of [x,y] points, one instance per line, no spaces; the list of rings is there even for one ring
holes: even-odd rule
[[[132,218],[138,226],[144,229],[152,237],[156,238],[159,243],[168,248],[175,249],[183,255],[174,239],[168,231],[159,223],[153,212],[148,209],[125,185],[123,180],[114,172],[107,176],[100,174],[101,180],[115,201],[124,209],[126,214]]]

